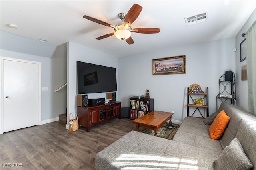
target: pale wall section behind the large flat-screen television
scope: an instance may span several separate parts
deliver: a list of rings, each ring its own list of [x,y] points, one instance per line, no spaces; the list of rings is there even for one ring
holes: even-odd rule
[[[68,42],[68,58],[67,58],[67,80],[68,80],[68,106],[67,106],[67,116],[76,112],[76,96],[77,96],[77,81],[76,81],[76,61],[82,61],[86,63],[104,65],[108,67],[116,68],[118,72],[117,57],[112,55],[90,49],[83,45],[74,42]],[[117,78],[118,81],[118,78]],[[118,87],[117,87],[118,88]],[[118,89],[119,91],[119,89]],[[91,98],[100,98],[106,97],[106,93],[92,93],[88,95],[89,99]],[[117,99],[118,100],[118,99]],[[68,120],[67,120],[68,123]]]

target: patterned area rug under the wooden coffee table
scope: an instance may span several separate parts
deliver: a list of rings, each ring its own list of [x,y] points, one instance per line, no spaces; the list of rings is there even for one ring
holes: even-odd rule
[[[180,125],[178,125],[178,124],[172,123],[172,126],[170,126],[169,123],[165,123],[164,125],[162,125],[162,127],[160,127],[158,129],[157,136],[160,137],[160,138],[165,138],[165,139],[172,140],[174,134],[177,132],[179,127],[180,127]],[[155,131],[151,130],[151,129],[146,129],[145,128],[141,132],[152,135],[152,136],[155,135]]]

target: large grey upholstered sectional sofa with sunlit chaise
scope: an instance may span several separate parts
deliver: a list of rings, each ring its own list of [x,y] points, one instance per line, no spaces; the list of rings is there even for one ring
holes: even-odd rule
[[[251,169],[256,170],[256,117],[225,102],[221,103],[218,112],[222,110],[230,117],[230,121],[220,140],[210,139],[210,125],[205,125],[204,119],[186,117],[173,140],[136,131],[129,132],[96,155],[96,169],[214,170],[232,166],[238,169],[239,160],[235,158],[234,163],[227,161],[232,156],[241,157],[240,153],[230,152],[231,145],[239,148],[238,145],[233,145],[234,140],[238,139],[236,141],[240,142],[251,167],[253,166]]]

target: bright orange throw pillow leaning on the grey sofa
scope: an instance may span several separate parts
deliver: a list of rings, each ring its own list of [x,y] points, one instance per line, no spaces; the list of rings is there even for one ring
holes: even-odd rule
[[[229,119],[230,117],[226,115],[225,111],[220,111],[209,128],[210,138],[212,140],[218,140],[220,138],[228,125]]]

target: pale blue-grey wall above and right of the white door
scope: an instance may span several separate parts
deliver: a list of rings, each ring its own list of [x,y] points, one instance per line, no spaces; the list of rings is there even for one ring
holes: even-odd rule
[[[55,118],[56,115],[52,113],[52,87],[51,87],[51,58],[40,57],[37,55],[30,55],[25,53],[18,53],[14,51],[8,51],[1,49],[1,57],[10,57],[15,59],[24,59],[29,61],[37,61],[42,63],[42,87],[48,86],[48,91],[42,91],[42,109],[41,120],[47,120]]]

